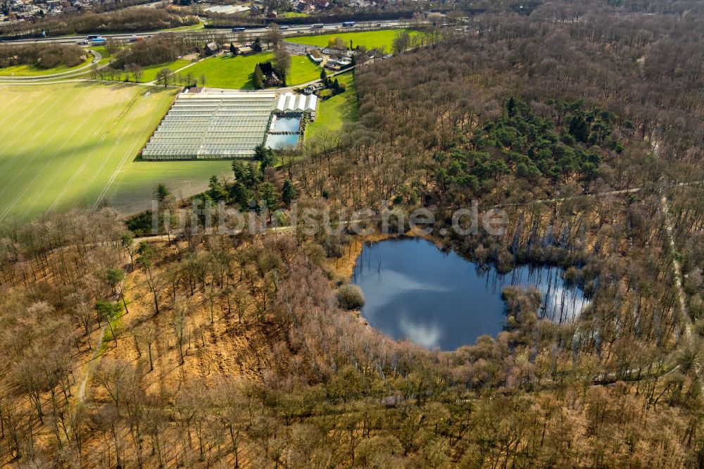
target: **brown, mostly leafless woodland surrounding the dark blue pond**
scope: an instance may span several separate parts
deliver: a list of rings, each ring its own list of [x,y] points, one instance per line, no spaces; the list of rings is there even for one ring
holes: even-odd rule
[[[348,311],[346,230],[134,239],[108,208],[5,225],[3,461],[703,465],[700,4],[551,3],[472,27],[360,65],[358,122],[302,155],[258,149],[199,198],[265,201],[284,224],[294,199],[389,210],[401,232],[419,206],[436,228],[472,199],[501,206],[505,235],[434,242],[503,271],[565,266],[592,299],[579,318],[508,289],[498,337],[428,351]]]

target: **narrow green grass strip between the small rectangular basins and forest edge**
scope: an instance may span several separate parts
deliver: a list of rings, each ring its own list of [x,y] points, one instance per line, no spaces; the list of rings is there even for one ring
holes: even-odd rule
[[[306,127],[306,137],[315,139],[325,132],[339,132],[346,122],[357,120],[357,95],[352,72],[337,75],[337,80],[346,86],[344,93],[320,101],[315,122]]]

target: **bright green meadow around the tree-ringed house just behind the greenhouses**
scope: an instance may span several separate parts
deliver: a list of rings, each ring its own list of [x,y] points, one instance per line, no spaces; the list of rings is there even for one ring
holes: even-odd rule
[[[196,63],[188,71],[196,77],[206,75],[206,87],[254,89],[254,67],[257,63],[271,60],[272,56],[265,52],[251,56],[211,57]],[[320,66],[304,56],[291,57],[291,73],[287,85],[301,85],[318,77]]]

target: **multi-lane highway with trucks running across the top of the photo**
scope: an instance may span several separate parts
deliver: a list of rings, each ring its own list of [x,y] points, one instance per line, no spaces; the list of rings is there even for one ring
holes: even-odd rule
[[[360,30],[368,30],[368,29],[376,29],[377,27],[382,27],[382,28],[394,28],[394,27],[403,27],[405,25],[408,25],[412,23],[410,20],[372,20],[372,21],[364,21],[361,23],[357,23],[354,27],[342,27],[342,23],[325,23],[322,27],[322,29],[313,29],[310,25],[291,25],[287,29],[282,29],[281,34],[285,36],[295,36],[295,35],[301,35],[301,34],[312,34],[312,33],[320,33],[321,31],[325,32],[338,32],[338,31],[344,31],[344,32],[353,32],[353,31],[360,31]],[[413,24],[417,24],[417,21],[414,21]],[[380,25],[380,26],[377,26]],[[284,26],[285,27],[285,26]],[[244,30],[244,35],[247,36],[260,36],[268,32],[269,28],[268,27],[256,27],[256,28],[246,28]],[[161,31],[161,32],[154,32],[154,31],[145,31],[145,32],[127,32],[127,33],[120,33],[120,34],[106,34],[102,35],[106,39],[115,39],[118,41],[128,41],[130,40],[130,37],[132,36],[142,36],[142,37],[148,37],[148,36],[153,36],[153,35],[163,35],[163,34],[168,34],[168,31]],[[98,34],[98,33],[95,33]],[[196,31],[177,31],[173,32],[173,34],[177,35],[189,35],[189,36],[203,36],[203,37],[212,37],[215,35],[226,35],[227,37],[236,37],[237,35],[243,34],[242,32],[232,32],[232,28],[227,27],[227,28],[208,28],[208,29],[203,29],[203,30],[196,30]],[[82,42],[86,39],[87,35],[80,35],[80,36],[61,36],[61,37],[34,37],[30,39],[14,39],[14,40],[6,40],[5,42],[1,44],[22,44],[22,43],[27,43],[27,42],[45,42],[45,43],[53,43],[53,44],[77,44],[79,42]]]

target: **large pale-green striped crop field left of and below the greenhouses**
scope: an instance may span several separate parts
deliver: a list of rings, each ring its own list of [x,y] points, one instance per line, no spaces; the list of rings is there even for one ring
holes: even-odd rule
[[[174,89],[0,85],[0,95],[0,222],[101,200],[134,213],[149,207],[159,182],[187,196],[229,173],[229,161],[134,161]]]

